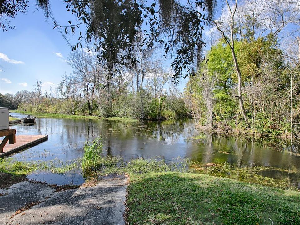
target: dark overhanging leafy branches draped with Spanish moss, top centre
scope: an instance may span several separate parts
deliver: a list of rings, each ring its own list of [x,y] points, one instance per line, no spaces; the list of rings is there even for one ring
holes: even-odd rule
[[[215,1],[195,0],[181,4],[177,0],[159,1],[147,5],[147,2],[102,1],[102,0],[68,0],[67,8],[77,15],[77,23],[61,26],[55,22],[55,27],[64,29],[66,33],[75,33],[80,26],[86,27],[86,32],[79,32],[79,42],[73,50],[82,47],[83,40],[95,41],[95,50],[104,69],[108,70],[110,79],[123,65],[134,66],[137,63],[136,52],[140,47],[151,48],[155,43],[164,47],[165,57],[171,54],[171,67],[175,71],[173,78],[179,82],[180,76],[195,74],[195,64],[201,60],[202,31],[212,17]],[[205,17],[199,9],[209,11]],[[128,22],[130,21],[130,23]],[[137,41],[142,27],[145,38],[140,45]],[[199,64],[199,63],[198,63]],[[109,85],[109,83],[107,84]]]

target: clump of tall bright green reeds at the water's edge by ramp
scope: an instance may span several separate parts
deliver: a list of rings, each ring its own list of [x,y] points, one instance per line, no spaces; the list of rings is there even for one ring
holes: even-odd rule
[[[87,168],[97,167],[103,147],[103,136],[99,136],[94,140],[86,140],[83,146],[84,153],[81,161],[83,171]]]

